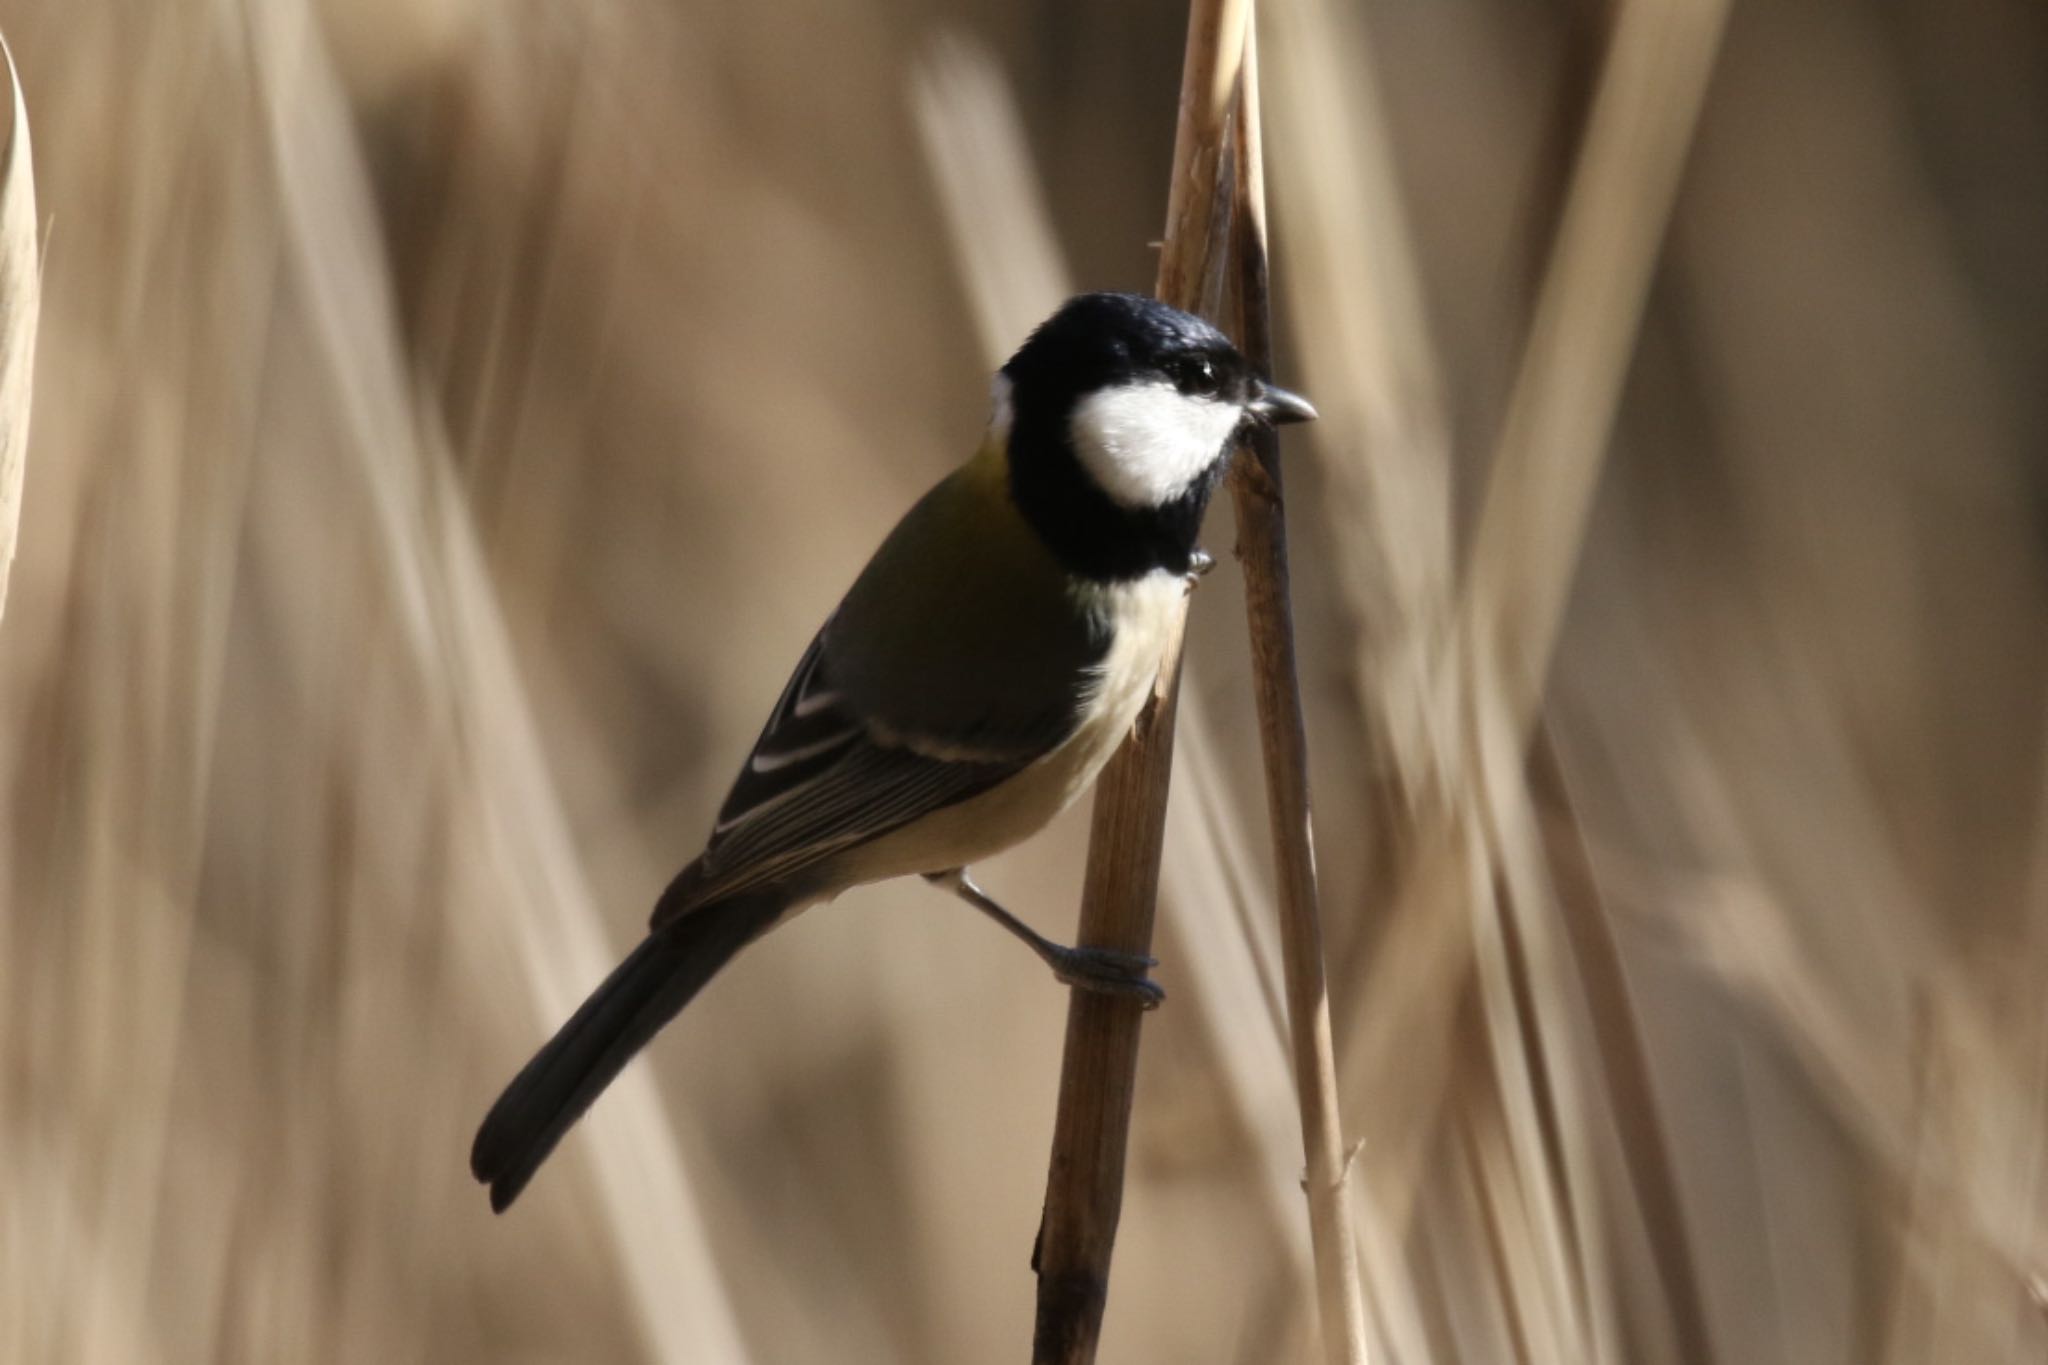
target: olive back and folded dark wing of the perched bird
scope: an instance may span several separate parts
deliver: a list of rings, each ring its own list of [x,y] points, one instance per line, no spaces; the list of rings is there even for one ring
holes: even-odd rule
[[[1008,505],[999,463],[969,463],[911,508],[811,641],[653,923],[1022,772],[1073,733],[1106,649],[1106,622],[1073,606]]]

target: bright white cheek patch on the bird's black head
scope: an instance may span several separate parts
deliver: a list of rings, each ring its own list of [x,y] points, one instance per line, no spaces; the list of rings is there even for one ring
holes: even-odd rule
[[[1157,508],[1188,491],[1237,430],[1237,403],[1171,385],[1118,385],[1073,407],[1069,436],[1090,477],[1124,508]]]

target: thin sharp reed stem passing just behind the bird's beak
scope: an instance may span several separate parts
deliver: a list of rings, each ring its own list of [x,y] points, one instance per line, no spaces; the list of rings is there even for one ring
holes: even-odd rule
[[[1255,33],[1245,37],[1235,151],[1233,274],[1243,350],[1262,375],[1272,375]],[[1294,1044],[1300,1136],[1309,1162],[1305,1189],[1309,1240],[1315,1248],[1315,1302],[1323,1326],[1323,1359],[1331,1365],[1360,1365],[1366,1359],[1366,1306],[1358,1285],[1358,1240],[1343,1197],[1337,1062],[1329,1038],[1323,921],[1315,886],[1315,823],[1309,808],[1309,731],[1300,716],[1286,508],[1280,487],[1280,440],[1272,428],[1255,428],[1231,469],[1231,499],[1237,508],[1237,563],[1245,575],[1251,681],[1260,712],[1260,749],[1266,755],[1266,810],[1272,819],[1274,868],[1280,884],[1280,962]]]

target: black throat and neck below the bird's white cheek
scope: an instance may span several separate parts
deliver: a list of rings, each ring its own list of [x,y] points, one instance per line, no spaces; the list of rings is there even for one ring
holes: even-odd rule
[[[1010,428],[1010,495],[1018,512],[1067,573],[1098,583],[1155,569],[1188,573],[1202,514],[1227,465],[1229,450],[1174,501],[1124,508],[1081,469],[1063,415],[1018,411]]]

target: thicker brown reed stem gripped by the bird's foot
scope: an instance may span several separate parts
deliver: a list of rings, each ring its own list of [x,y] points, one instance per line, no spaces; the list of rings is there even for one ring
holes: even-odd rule
[[[1210,280],[1229,244],[1227,201],[1219,190],[1247,18],[1249,0],[1192,0],[1188,8],[1188,51],[1157,295],[1190,311],[1204,311],[1204,303],[1210,305],[1206,311],[1214,311]],[[1081,943],[1151,952],[1178,686],[1176,639],[1151,702],[1096,786],[1081,925],[1075,935]],[[1040,1365],[1096,1359],[1116,1220],[1122,1212],[1141,1019],[1143,1011],[1135,1003],[1085,990],[1075,990],[1067,1007],[1059,1115],[1053,1124],[1044,1220],[1034,1257],[1038,1322],[1032,1361]]]

